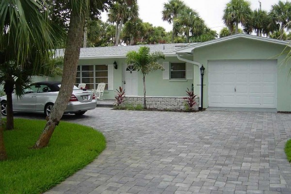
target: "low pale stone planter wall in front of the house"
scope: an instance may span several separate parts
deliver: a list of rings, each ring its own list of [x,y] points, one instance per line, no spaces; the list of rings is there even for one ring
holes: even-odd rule
[[[185,109],[186,100],[183,97],[146,97],[147,108],[155,109]],[[198,110],[199,107],[199,97],[195,97],[195,104],[193,110]],[[125,97],[125,102],[123,106],[134,106],[144,104],[144,97]]]

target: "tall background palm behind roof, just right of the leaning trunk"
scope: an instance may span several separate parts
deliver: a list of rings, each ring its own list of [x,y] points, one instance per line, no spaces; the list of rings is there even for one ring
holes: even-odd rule
[[[123,23],[138,17],[137,0],[117,0],[109,10],[108,20],[115,23],[115,46],[118,46]]]

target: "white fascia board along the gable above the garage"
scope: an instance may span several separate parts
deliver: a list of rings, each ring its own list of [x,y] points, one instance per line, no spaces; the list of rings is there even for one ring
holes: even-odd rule
[[[210,40],[210,41],[207,41],[207,42],[198,43],[196,45],[188,46],[186,48],[178,49],[176,51],[176,53],[192,52],[196,48],[206,47],[206,46],[210,46],[210,45],[214,45],[214,44],[217,44],[217,43],[226,42],[226,41],[230,41],[230,40],[234,40],[234,39],[238,39],[238,38],[246,38],[246,39],[263,41],[263,42],[268,42],[268,43],[273,43],[273,44],[278,44],[278,45],[284,45],[284,46],[291,47],[291,43],[289,43],[287,41],[284,41],[284,40],[277,40],[277,39],[273,39],[273,38],[259,37],[259,36],[255,36],[255,35],[249,35],[249,34],[235,34],[235,35],[230,35],[230,36],[226,36],[226,37],[223,37],[223,38]]]

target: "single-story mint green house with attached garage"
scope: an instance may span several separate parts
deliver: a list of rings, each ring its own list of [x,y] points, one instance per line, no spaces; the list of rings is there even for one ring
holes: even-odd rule
[[[147,45],[162,51],[164,71],[146,76],[146,95],[185,97],[187,88],[201,97],[200,67],[205,67],[203,108],[272,108],[291,111],[291,62],[288,41],[235,34],[203,43]],[[105,82],[104,98],[114,99],[122,86],[126,96],[143,96],[142,76],[126,64],[126,54],[142,45],[81,49],[76,84],[88,89]],[[284,52],[283,52],[284,51]],[[63,50],[58,50],[63,54]],[[114,68],[113,63],[117,63]],[[200,99],[201,100],[201,99]]]

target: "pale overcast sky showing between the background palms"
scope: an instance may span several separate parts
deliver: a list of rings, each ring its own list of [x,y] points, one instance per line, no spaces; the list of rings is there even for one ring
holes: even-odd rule
[[[225,26],[223,20],[223,10],[229,0],[182,0],[186,5],[196,10],[207,26],[217,33]],[[271,5],[279,0],[260,0],[263,10],[270,11]],[[162,26],[167,32],[172,30],[171,24],[162,20],[163,4],[168,0],[138,0],[139,17],[144,22],[149,22],[153,26]],[[259,8],[259,0],[249,0],[251,9]],[[102,13],[102,20],[107,20],[107,13]]]

